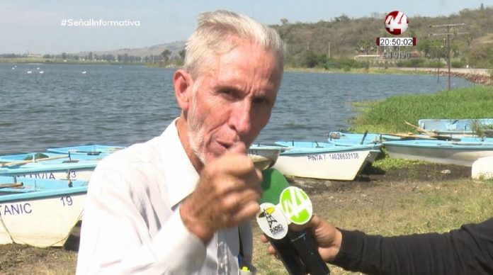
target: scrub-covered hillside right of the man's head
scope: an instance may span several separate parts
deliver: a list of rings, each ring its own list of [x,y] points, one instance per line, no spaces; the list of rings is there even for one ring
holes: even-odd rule
[[[354,55],[382,54],[383,47],[375,45],[375,38],[390,37],[384,27],[385,14],[372,13],[370,17],[348,18],[342,15],[330,21],[317,23],[290,23],[281,19],[278,30],[288,44],[288,64],[293,67],[313,67],[309,57],[350,57]],[[466,26],[452,28],[450,40],[452,58],[462,60],[474,67],[493,67],[493,7],[464,9],[450,16],[409,17],[409,28],[403,37],[416,37],[416,47],[401,47],[400,51],[413,51],[416,57],[436,59],[446,56],[446,36],[430,36],[429,33],[445,33],[446,28],[429,26],[466,23]],[[388,48],[388,47],[387,47]],[[389,50],[389,49],[387,49]],[[313,64],[313,63],[312,63]],[[308,65],[308,66],[307,66]],[[460,66],[459,66],[460,67]]]

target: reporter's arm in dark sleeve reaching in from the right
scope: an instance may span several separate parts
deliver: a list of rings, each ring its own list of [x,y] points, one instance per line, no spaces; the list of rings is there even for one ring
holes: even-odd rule
[[[382,237],[341,230],[331,264],[368,274],[493,274],[493,218],[448,233]]]

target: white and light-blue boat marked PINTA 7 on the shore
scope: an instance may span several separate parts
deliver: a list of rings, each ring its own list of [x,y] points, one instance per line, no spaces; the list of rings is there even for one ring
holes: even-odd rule
[[[273,168],[288,176],[351,181],[380,145],[335,145],[330,142],[278,141],[283,146]],[[376,156],[376,154],[375,154]],[[374,157],[373,157],[374,159]]]

